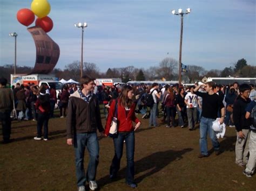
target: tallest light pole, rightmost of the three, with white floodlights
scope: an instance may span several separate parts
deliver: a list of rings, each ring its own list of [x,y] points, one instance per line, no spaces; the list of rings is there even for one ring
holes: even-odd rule
[[[173,15],[180,15],[181,18],[181,27],[180,27],[180,43],[179,43],[179,86],[181,85],[181,49],[182,49],[182,36],[183,36],[183,15],[190,13],[191,9],[187,8],[186,12],[183,12],[182,9],[172,10]]]

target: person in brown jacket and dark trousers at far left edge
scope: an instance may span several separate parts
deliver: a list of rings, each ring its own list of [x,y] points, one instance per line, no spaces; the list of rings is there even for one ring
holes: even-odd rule
[[[0,121],[2,122],[3,143],[10,142],[11,119],[10,114],[14,108],[14,94],[10,88],[6,88],[7,80],[0,78]]]

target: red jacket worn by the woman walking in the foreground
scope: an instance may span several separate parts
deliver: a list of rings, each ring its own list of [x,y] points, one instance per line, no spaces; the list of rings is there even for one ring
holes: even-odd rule
[[[130,132],[133,131],[133,125],[132,122],[138,123],[140,122],[139,119],[135,116],[135,108],[136,104],[132,104],[130,111],[127,113],[125,108],[117,104],[117,125],[118,125],[118,132]],[[112,118],[114,117],[114,112],[116,109],[116,100],[113,100],[110,109],[109,109],[109,115],[107,116],[106,126],[105,126],[105,134],[109,135],[110,125],[112,122]]]

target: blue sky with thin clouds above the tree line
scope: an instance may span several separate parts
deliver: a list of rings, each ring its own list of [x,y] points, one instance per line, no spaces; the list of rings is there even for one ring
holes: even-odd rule
[[[34,66],[36,49],[16,13],[32,1],[1,0],[0,65],[14,63],[17,32],[17,65]],[[245,58],[256,65],[255,0],[49,0],[53,29],[48,35],[59,45],[57,68],[80,60],[81,29],[86,22],[84,61],[102,72],[111,67],[149,68],[171,56],[179,59],[180,18],[172,9],[191,8],[184,17],[182,62],[205,69],[223,69]],[[34,23],[30,26],[35,25]],[[167,52],[169,54],[167,54]]]

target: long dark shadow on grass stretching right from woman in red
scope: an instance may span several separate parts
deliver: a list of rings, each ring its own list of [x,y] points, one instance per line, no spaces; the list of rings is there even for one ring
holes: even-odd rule
[[[147,176],[151,176],[154,173],[159,172],[161,169],[163,169],[165,166],[169,165],[170,162],[180,160],[182,159],[182,155],[185,154],[186,152],[192,151],[192,148],[184,148],[181,151],[173,151],[173,150],[167,150],[167,151],[159,151],[153,154],[150,154],[140,160],[137,160],[134,162],[134,174],[139,174],[143,173],[144,174],[140,175],[137,177],[134,181],[136,183],[141,182],[144,178]],[[125,160],[125,159],[123,159]],[[111,182],[118,181],[120,179],[125,178],[125,171],[126,167],[120,169],[118,171],[118,177],[114,180],[110,180],[109,175],[104,176],[103,178],[98,180],[98,183],[101,187],[104,185],[107,185]],[[149,172],[147,172],[149,171]]]

